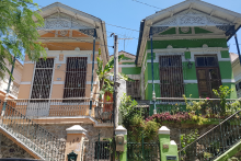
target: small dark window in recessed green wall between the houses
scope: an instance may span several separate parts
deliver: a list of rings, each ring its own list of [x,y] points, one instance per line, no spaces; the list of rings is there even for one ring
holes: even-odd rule
[[[126,81],[126,92],[134,100],[140,100],[140,81]]]

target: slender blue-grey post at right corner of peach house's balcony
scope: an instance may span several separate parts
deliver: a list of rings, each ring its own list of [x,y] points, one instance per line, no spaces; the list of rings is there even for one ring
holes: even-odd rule
[[[93,80],[94,80],[95,39],[96,39],[96,30],[94,28],[94,36],[93,36],[93,57],[92,57],[92,74],[91,74],[91,95],[90,95],[90,112],[89,112],[89,115],[90,115],[90,116],[91,116],[92,104],[93,104]]]

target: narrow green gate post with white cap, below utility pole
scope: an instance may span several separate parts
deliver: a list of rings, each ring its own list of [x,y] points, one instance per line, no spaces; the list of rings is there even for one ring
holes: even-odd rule
[[[123,135],[124,136],[124,151],[119,152],[119,161],[127,161],[127,129],[119,125],[115,129],[115,136]],[[115,141],[115,146],[117,147],[119,142]]]

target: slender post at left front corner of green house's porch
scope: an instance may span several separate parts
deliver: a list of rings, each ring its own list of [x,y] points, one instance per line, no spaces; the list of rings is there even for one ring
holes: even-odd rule
[[[153,114],[157,114],[156,107],[156,92],[154,92],[154,65],[153,65],[153,42],[152,42],[152,27],[150,27],[150,41],[151,41],[151,74],[152,74],[152,102],[153,102]]]

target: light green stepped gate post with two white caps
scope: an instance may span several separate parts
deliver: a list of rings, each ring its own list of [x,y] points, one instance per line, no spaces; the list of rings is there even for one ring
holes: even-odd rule
[[[170,129],[162,126],[159,130],[160,158],[161,161],[177,161],[177,145],[174,140],[170,141]]]

